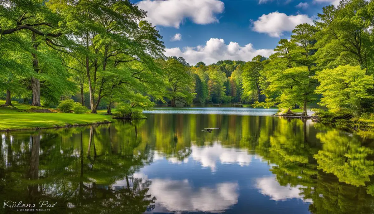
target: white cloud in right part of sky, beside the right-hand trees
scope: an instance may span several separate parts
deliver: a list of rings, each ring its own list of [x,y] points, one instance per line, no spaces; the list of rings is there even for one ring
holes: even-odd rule
[[[313,21],[307,15],[298,14],[288,16],[285,13],[277,11],[260,16],[252,23],[252,30],[258,33],[267,33],[271,37],[280,37],[283,35],[283,32],[292,31],[297,25],[302,23],[313,24]]]

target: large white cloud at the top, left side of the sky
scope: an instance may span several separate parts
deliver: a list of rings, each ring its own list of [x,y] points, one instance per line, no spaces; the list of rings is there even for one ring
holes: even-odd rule
[[[220,0],[143,0],[138,6],[147,11],[147,20],[154,25],[179,28],[186,19],[196,24],[218,22],[217,14],[224,10]]]

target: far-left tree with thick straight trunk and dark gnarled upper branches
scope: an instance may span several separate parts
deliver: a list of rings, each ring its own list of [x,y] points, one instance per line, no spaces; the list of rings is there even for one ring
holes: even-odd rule
[[[49,87],[50,82],[49,75],[54,75],[52,70],[59,69],[58,65],[61,63],[52,63],[53,60],[46,63],[46,58],[40,61],[40,57],[43,58],[45,52],[49,52],[45,46],[54,48],[58,46],[53,38],[62,35],[61,29],[58,28],[58,22],[60,18],[55,13],[46,7],[46,5],[39,0],[27,0],[27,1],[8,1],[7,6],[1,7],[1,13],[6,14],[1,17],[2,26],[1,35],[4,35],[4,39],[9,39],[10,35],[15,33],[22,33],[25,37],[28,37],[30,45],[24,47],[32,55],[33,70],[34,73],[31,75],[31,90],[33,92],[33,101],[31,106],[41,106],[40,94],[41,84],[45,86],[45,89]],[[24,38],[26,40],[26,38]],[[30,41],[31,40],[31,41]],[[27,43],[23,43],[24,45]],[[42,44],[45,44],[42,46]],[[51,55],[49,55],[50,57]],[[52,55],[53,56],[53,55]],[[48,66],[46,66],[48,65]],[[47,71],[49,70],[49,71]],[[52,73],[53,74],[52,74]],[[60,71],[64,74],[63,70]],[[65,77],[65,75],[63,75]],[[43,78],[44,77],[44,78]],[[43,82],[40,82],[40,79]],[[61,79],[60,79],[61,80]]]

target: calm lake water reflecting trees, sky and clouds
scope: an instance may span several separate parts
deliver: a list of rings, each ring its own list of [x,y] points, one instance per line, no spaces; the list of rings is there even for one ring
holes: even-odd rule
[[[41,213],[374,213],[373,133],[247,108],[171,111],[0,133],[0,202],[57,203]],[[221,129],[201,131],[210,127]]]

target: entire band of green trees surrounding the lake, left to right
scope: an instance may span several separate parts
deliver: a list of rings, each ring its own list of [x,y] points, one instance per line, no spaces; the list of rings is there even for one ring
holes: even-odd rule
[[[155,104],[248,103],[374,117],[374,2],[342,0],[300,24],[269,58],[206,65],[166,57],[128,0],[1,0],[0,98],[137,117]]]

